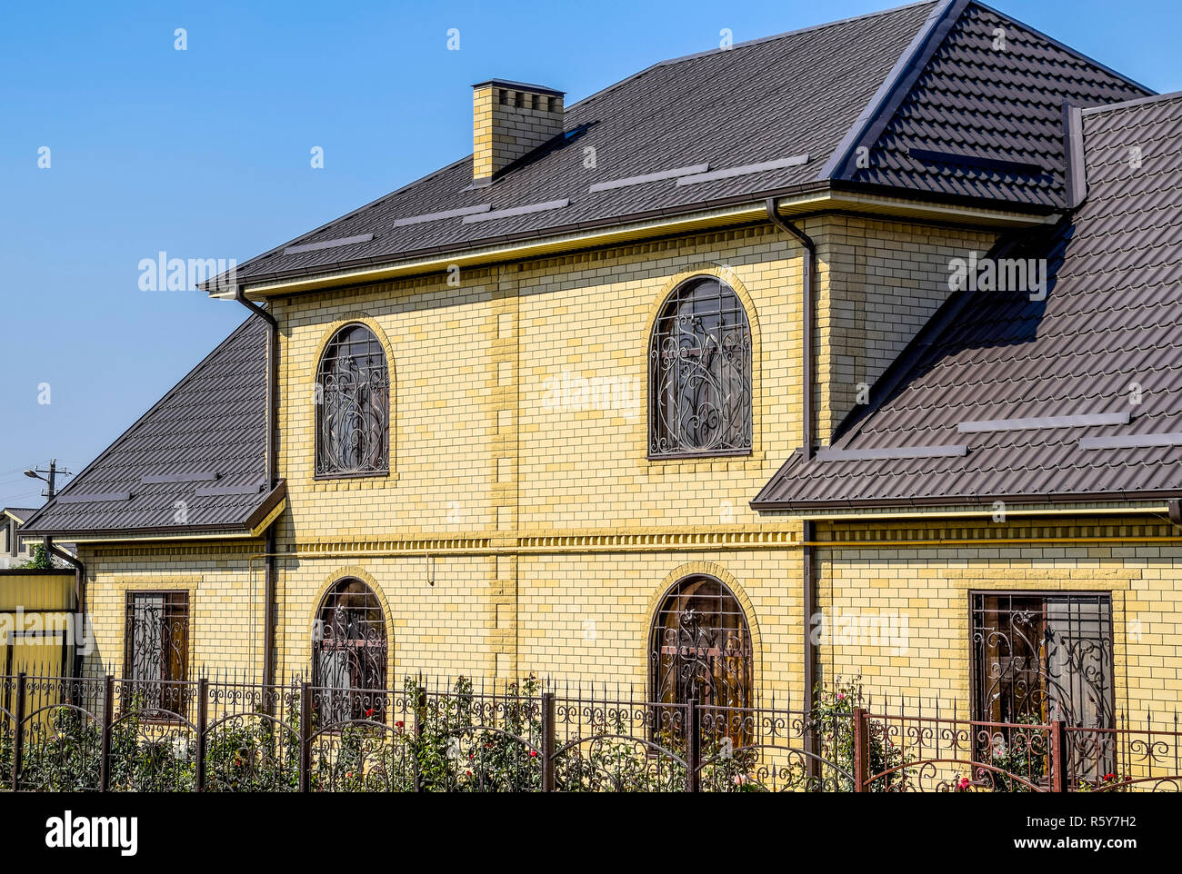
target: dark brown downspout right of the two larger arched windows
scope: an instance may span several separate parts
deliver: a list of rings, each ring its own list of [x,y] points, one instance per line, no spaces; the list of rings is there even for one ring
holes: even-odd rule
[[[798,450],[801,461],[808,462],[813,456],[813,279],[817,269],[817,244],[812,237],[792,222],[785,221],[775,210],[775,198],[766,201],[767,218],[772,224],[795,237],[805,249],[800,280],[801,340],[800,340],[800,431],[801,445]],[[812,622],[817,611],[817,572],[816,572],[816,522],[804,520],[804,544],[800,547],[800,572],[803,580],[801,600],[804,601],[804,653],[805,653],[805,710],[811,712],[813,692],[817,687],[817,644],[813,641]],[[812,738],[816,741],[816,738]],[[816,768],[817,759],[810,757],[808,765]]]

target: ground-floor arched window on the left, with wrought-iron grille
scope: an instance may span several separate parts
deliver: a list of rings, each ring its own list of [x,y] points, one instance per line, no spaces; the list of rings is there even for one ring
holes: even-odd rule
[[[333,583],[312,630],[312,683],[326,690],[322,718],[361,719],[378,709],[358,692],[387,687],[387,652],[385,617],[374,591],[355,578]]]

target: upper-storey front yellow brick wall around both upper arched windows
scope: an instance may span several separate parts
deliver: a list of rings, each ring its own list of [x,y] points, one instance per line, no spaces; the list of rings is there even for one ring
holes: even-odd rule
[[[747,307],[754,451],[650,462],[649,331],[674,286],[699,274],[723,278]],[[753,228],[466,272],[460,282],[277,304],[280,468],[299,540],[759,523],[747,502],[800,442],[798,247]],[[391,361],[392,470],[317,481],[316,367],[349,321],[369,325]]]

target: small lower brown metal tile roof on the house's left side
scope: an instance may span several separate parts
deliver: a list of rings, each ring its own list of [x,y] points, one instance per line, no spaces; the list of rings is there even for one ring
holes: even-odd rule
[[[266,324],[251,317],[21,528],[30,534],[238,530],[262,489]],[[194,476],[216,478],[195,480]],[[252,488],[249,494],[199,494]],[[177,518],[181,503],[188,513]]]

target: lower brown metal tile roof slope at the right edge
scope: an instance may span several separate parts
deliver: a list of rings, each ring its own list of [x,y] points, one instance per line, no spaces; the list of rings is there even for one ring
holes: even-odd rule
[[[966,444],[962,457],[795,455],[756,508],[1182,496],[1182,445],[1082,437],[1182,432],[1182,92],[1083,113],[1087,200],[1009,257],[1046,257],[1046,300],[955,293],[834,446]],[[1132,167],[1130,146],[1142,151]],[[1134,384],[1142,387],[1131,404]],[[1131,415],[1129,424],[963,432],[989,419]]]

